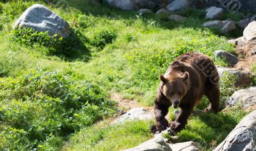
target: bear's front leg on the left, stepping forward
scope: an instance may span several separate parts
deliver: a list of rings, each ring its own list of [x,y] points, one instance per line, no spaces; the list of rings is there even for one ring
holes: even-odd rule
[[[156,117],[156,126],[159,131],[163,131],[168,127],[168,120],[166,120],[164,117],[168,113],[168,105],[159,104],[158,101],[155,101],[154,103],[154,114]]]

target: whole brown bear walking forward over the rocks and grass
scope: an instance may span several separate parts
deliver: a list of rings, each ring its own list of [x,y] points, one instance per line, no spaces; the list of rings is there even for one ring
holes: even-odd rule
[[[168,68],[161,79],[154,101],[157,129],[170,126],[172,131],[180,131],[187,123],[195,104],[202,96],[207,96],[210,105],[205,111],[218,113],[220,108],[219,76],[216,66],[207,55],[188,52],[180,55]],[[175,121],[168,124],[164,117],[168,108],[180,108]]]

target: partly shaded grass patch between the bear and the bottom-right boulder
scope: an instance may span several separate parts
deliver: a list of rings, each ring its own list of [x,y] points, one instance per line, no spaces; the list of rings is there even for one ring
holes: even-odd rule
[[[192,115],[185,129],[178,138],[170,138],[174,143],[195,141],[202,150],[213,150],[236,127],[247,113],[239,107],[228,108],[217,115],[214,113],[198,113]]]

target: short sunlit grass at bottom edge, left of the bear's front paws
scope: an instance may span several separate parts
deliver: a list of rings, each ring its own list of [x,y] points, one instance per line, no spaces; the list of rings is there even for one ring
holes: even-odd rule
[[[122,150],[152,138],[152,121],[131,121],[111,126],[109,121],[81,130],[61,150]]]

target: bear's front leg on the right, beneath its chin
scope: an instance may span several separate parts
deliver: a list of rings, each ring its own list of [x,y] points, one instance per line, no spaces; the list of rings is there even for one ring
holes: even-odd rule
[[[191,115],[193,111],[194,106],[189,106],[187,108],[184,108],[183,106],[180,106],[180,112],[175,121],[170,122],[170,128],[172,131],[179,132],[181,129],[185,127],[185,125],[188,122],[188,117]]]

